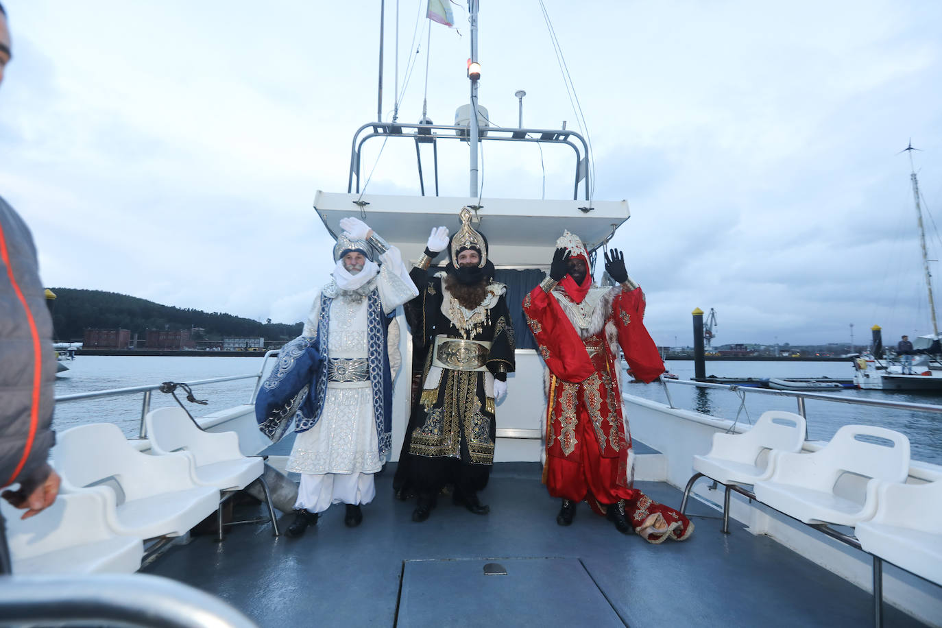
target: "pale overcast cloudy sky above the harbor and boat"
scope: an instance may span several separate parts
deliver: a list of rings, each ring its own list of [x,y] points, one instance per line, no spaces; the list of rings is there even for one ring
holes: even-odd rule
[[[431,24],[429,50],[424,4],[399,3],[399,120],[421,115],[428,58],[429,116],[450,123],[466,12],[453,7],[457,31]],[[480,4],[491,121],[515,126],[526,89],[525,126],[580,128],[539,2]],[[715,344],[932,331],[897,153],[910,137],[923,150],[940,259],[942,3],[544,4],[593,141],[594,198],[629,202],[613,245],[659,345],[692,342],[695,307],[716,309]],[[0,195],[33,230],[43,282],[301,320],[333,266],[315,193],[346,191],[353,132],[376,119],[379,0],[4,5]],[[386,120],[395,14],[387,0]],[[392,144],[369,191],[417,193],[414,149]],[[571,156],[544,153],[546,197],[566,198]],[[467,193],[455,157],[443,195]],[[532,145],[483,166],[485,200],[542,195]]]

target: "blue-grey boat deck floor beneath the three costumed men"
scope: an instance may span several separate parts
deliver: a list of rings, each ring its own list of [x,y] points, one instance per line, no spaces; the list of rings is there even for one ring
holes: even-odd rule
[[[863,626],[872,599],[835,574],[692,501],[696,529],[652,545],[623,536],[582,504],[555,521],[558,500],[538,463],[498,463],[476,516],[442,497],[425,523],[392,491],[395,464],[359,527],[331,507],[300,539],[268,524],[229,529],[172,547],[142,570],[216,594],[260,626]],[[680,491],[639,482],[677,507]],[[291,516],[284,516],[284,527]],[[284,529],[284,528],[283,528]],[[497,563],[506,575],[485,575]],[[889,565],[885,570],[895,570]],[[885,606],[885,625],[918,621]]]

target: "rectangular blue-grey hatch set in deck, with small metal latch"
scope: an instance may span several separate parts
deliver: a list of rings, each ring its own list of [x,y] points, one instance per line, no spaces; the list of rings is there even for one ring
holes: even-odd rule
[[[514,609],[512,616],[508,609]],[[581,560],[549,557],[405,560],[396,625],[624,627],[625,622]]]

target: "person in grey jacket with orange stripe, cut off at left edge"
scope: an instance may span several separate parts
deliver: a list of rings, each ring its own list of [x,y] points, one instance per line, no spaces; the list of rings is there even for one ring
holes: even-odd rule
[[[0,5],[0,83],[10,59],[7,12]],[[49,466],[55,434],[56,354],[33,237],[0,198],[0,489],[32,517],[56,501],[59,477]],[[0,516],[0,573],[10,572],[6,526]]]

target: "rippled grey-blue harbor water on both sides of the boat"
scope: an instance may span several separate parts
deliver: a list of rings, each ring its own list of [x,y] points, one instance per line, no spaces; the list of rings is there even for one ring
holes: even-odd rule
[[[186,382],[256,374],[262,367],[262,358],[81,356],[72,362],[65,363],[70,367],[70,371],[67,372],[66,377],[57,378],[56,395],[144,386],[163,381]],[[270,368],[273,363],[273,360],[269,360],[267,368]],[[669,367],[681,379],[693,377],[693,362],[670,362]],[[853,366],[850,361],[707,362],[707,375],[727,378],[824,376],[850,378],[852,374]],[[178,390],[177,396],[184,400],[184,404],[193,414],[203,415],[248,403],[254,382],[254,378],[251,378],[198,386],[194,389],[194,395],[198,399],[207,400],[208,403],[205,406],[185,401],[186,393],[183,391]],[[512,394],[512,378],[509,384]],[[629,395],[638,395],[660,403],[667,403],[667,395],[659,383],[625,383],[623,388],[624,392]],[[687,385],[671,386],[670,394],[677,408],[737,420],[745,425],[755,423],[755,420],[766,410],[797,411],[796,400],[786,396],[755,395],[742,391],[702,389]],[[883,391],[855,389],[844,389],[834,395],[942,404],[942,395],[884,393]],[[107,422],[121,427],[126,436],[136,436],[140,423],[142,399],[142,394],[137,393],[57,404],[53,426],[61,431],[83,423]],[[171,395],[157,391],[152,393],[151,408],[171,406],[175,403]],[[543,399],[535,400],[535,403],[542,405]],[[848,424],[889,427],[902,432],[909,438],[913,459],[942,464],[942,414],[855,406],[816,399],[809,399],[805,402],[805,412],[810,440],[827,441],[839,427]],[[534,416],[539,414],[540,412],[535,412]],[[630,418],[629,416],[629,425]],[[497,425],[500,426],[499,407]]]

